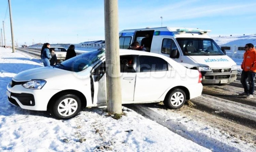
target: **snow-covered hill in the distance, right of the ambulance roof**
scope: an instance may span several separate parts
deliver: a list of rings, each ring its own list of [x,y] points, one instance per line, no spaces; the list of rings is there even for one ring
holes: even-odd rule
[[[218,36],[212,37],[212,39],[218,44],[222,46],[244,46],[247,43],[252,43],[256,45],[256,34],[252,35],[240,35],[240,36]]]

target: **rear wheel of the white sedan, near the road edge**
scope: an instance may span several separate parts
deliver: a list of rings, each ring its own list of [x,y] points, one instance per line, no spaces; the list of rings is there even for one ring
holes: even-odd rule
[[[176,88],[172,90],[164,100],[164,105],[170,109],[178,109],[186,102],[186,94],[183,90]]]

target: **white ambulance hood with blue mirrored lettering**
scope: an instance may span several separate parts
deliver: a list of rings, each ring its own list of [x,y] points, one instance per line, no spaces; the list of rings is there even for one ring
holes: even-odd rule
[[[190,56],[197,64],[201,66],[208,65],[210,68],[225,68],[236,65],[236,63],[227,55],[225,56]]]

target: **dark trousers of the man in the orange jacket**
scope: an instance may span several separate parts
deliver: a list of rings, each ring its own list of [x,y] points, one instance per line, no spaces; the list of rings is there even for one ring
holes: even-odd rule
[[[248,78],[249,86],[248,86],[248,84],[246,82],[247,78]],[[254,80],[255,80],[255,72],[244,71],[244,70],[242,71],[240,82],[242,83],[242,85],[244,87],[244,92],[253,95],[253,92],[254,92]]]

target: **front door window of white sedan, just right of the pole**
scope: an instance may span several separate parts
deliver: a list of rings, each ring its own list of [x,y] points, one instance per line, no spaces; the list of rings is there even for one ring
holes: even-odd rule
[[[120,56],[120,72],[135,72],[133,56]]]

